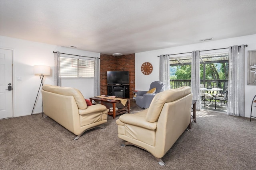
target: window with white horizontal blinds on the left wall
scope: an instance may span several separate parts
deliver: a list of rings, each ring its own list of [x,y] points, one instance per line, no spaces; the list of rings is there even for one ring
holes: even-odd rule
[[[60,56],[60,77],[94,77],[94,60]]]

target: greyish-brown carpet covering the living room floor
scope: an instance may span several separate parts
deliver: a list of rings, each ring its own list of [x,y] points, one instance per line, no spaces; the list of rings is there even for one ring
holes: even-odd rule
[[[0,120],[0,169],[256,170],[256,119],[197,111],[197,123],[165,154],[161,167],[145,150],[120,147],[118,117],[108,116],[106,129],[87,131],[77,141],[40,114]]]

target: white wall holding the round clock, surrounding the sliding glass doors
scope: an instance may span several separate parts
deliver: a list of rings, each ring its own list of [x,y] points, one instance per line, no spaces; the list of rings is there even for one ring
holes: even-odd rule
[[[248,50],[256,49],[256,34],[248,35],[243,37],[235,37],[230,39],[223,39],[217,41],[209,41],[203,43],[196,43],[191,45],[184,45],[179,47],[172,47],[167,49],[160,49],[154,51],[147,51],[135,54],[135,89],[136,90],[149,90],[149,85],[152,81],[159,80],[159,57],[162,54],[177,54],[186,53],[194,50],[209,50],[209,49],[220,49],[226,48],[231,45],[248,45],[245,47],[245,117],[250,117],[251,102],[253,97],[256,95],[256,86],[247,85],[247,59]],[[140,66],[144,62],[150,62],[153,65],[153,72],[150,75],[144,75],[140,71]],[[254,115],[256,111],[254,111]]]

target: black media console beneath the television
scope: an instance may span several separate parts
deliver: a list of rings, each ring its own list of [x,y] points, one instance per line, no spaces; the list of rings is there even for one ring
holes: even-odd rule
[[[108,96],[130,98],[129,86],[129,84],[108,85]]]

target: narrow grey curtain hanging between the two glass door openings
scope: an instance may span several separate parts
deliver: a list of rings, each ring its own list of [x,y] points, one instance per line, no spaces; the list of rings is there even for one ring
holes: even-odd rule
[[[192,51],[191,56],[191,89],[193,100],[197,100],[196,109],[201,109],[200,101],[200,51]]]

